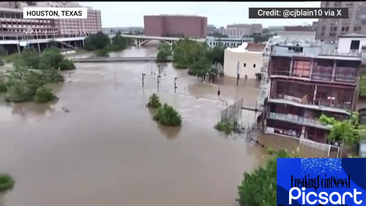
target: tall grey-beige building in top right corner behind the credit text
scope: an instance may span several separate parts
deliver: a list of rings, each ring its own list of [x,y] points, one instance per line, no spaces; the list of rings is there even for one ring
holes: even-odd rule
[[[347,33],[366,34],[366,1],[322,1],[320,7],[347,7],[348,19],[319,19],[316,38],[322,41],[337,41]]]

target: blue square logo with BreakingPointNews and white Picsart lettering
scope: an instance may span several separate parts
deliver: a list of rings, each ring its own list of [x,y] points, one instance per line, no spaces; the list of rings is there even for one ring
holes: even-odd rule
[[[365,206],[366,158],[277,158],[277,206]]]

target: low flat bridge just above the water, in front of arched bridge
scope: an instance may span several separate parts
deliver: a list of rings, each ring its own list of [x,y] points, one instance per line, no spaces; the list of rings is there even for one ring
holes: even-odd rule
[[[156,62],[156,57],[90,57],[90,58],[79,58],[72,59],[72,62],[83,62],[83,63],[98,63],[98,62]],[[173,58],[169,57],[168,61],[172,61]]]

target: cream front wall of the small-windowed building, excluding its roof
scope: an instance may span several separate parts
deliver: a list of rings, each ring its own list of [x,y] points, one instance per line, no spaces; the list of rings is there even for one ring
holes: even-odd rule
[[[255,76],[255,74],[259,72],[260,68],[263,66],[263,54],[259,52],[232,52],[225,49],[225,76],[236,77],[236,65],[238,65],[238,62],[240,78],[244,78],[245,75],[247,75],[248,79],[256,79],[257,76]]]

